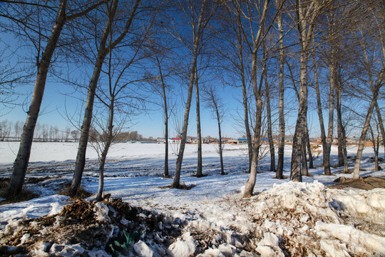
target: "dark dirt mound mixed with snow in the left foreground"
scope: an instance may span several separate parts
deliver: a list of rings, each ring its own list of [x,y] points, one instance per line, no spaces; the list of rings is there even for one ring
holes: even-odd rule
[[[55,216],[9,223],[0,233],[0,256],[88,256],[92,251],[103,256],[106,252],[101,249],[105,248],[117,256],[113,251],[118,238],[134,234],[137,237],[125,251],[133,252],[133,243],[140,239],[156,244],[152,248],[159,248],[158,254],[164,256],[182,227],[178,219],[129,206],[121,198],[108,198],[101,203],[80,200],[64,206]],[[106,246],[113,246],[112,250]]]

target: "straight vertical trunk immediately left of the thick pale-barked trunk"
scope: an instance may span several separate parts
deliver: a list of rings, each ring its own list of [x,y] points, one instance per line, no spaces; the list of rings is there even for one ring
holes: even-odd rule
[[[279,6],[278,1],[276,1]],[[277,15],[279,33],[279,145],[276,178],[283,179],[284,164],[284,42],[282,29],[282,11]]]

